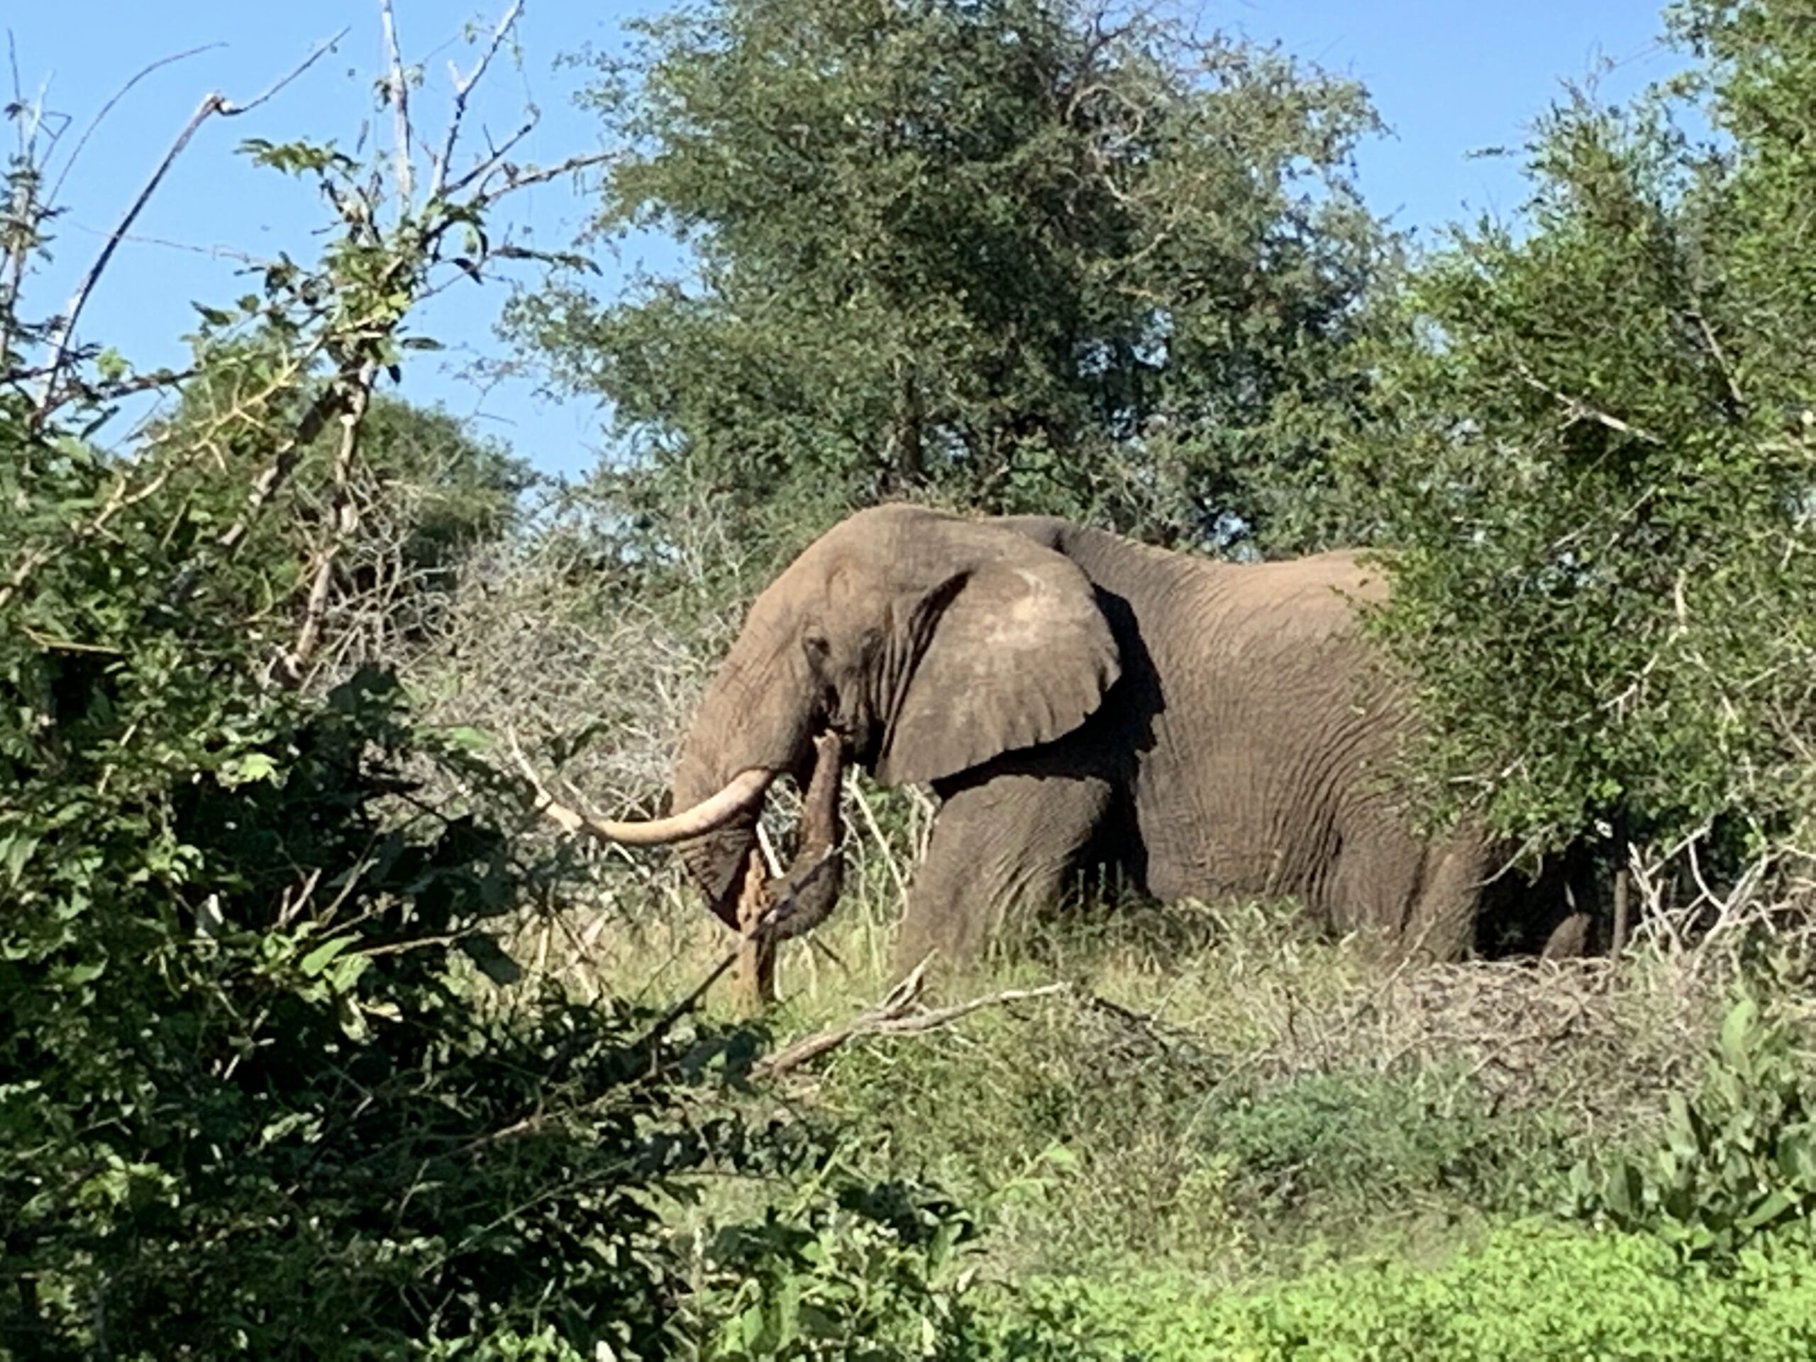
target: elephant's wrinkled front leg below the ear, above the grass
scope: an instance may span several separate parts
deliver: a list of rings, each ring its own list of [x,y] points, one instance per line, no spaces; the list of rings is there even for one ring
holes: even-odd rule
[[[944,790],[895,941],[895,972],[964,961],[1012,912],[1051,906],[1113,804],[1100,777],[997,772]]]

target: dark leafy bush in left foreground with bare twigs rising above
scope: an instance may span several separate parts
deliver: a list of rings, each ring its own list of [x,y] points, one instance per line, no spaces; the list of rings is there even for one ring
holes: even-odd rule
[[[950,1297],[913,1189],[812,1182],[824,1262],[730,1224],[683,1251],[703,1173],[823,1162],[728,1104],[757,1037],[519,982],[512,790],[389,670],[311,668],[358,527],[409,505],[389,479],[470,476],[414,521],[432,558],[514,472],[372,392],[476,205],[381,212],[383,173],[254,153],[323,176],[340,234],[202,311],[149,438],[96,441],[145,376],[0,298],[0,1357],[656,1358],[719,1337],[734,1273],[841,1337],[919,1318]],[[15,165],[9,280],[36,183]]]

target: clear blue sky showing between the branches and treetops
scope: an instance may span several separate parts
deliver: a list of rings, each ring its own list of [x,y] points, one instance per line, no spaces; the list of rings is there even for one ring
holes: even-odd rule
[[[449,60],[470,60],[463,27],[490,24],[505,2],[481,11],[472,0],[394,0],[405,58],[432,73],[416,104],[427,125],[439,125],[445,109],[441,73]],[[659,7],[659,0],[527,0],[523,60],[494,67],[470,125],[501,133],[534,104],[541,122],[525,147],[527,160],[548,163],[596,147],[592,120],[572,105],[583,73],[558,67],[554,58],[585,45],[614,49],[623,20]],[[40,280],[42,311],[67,298],[203,94],[218,89],[251,100],[347,29],[332,53],[267,105],[203,127],[91,300],[84,334],[104,338],[140,365],[178,361],[178,336],[194,320],[189,303],[243,292],[234,280],[242,267],[236,256],[311,251],[309,232],[323,222],[312,191],[251,167],[232,149],[251,136],[332,134],[349,145],[360,136],[383,56],[378,0],[38,0],[7,11],[0,27],[11,38],[24,93],[44,91],[51,109],[73,118],[65,153],[145,65],[203,49],[122,94],[71,165],[56,260]],[[1560,82],[1607,65],[1602,89],[1624,94],[1676,65],[1656,42],[1658,0],[1231,0],[1208,4],[1202,15],[1208,25],[1278,40],[1369,87],[1393,136],[1362,149],[1362,189],[1378,212],[1420,236],[1455,218],[1518,209],[1518,162],[1473,153],[1518,147]],[[514,232],[554,247],[567,242],[583,209],[570,189],[545,185],[518,198],[508,218]],[[659,247],[654,251],[652,263],[659,263]],[[619,269],[636,263],[627,258]],[[605,269],[610,281],[617,269],[612,262]],[[492,323],[503,296],[499,287],[472,287],[438,300],[423,329],[450,350],[419,358],[407,372],[405,394],[474,418],[538,469],[583,472],[607,439],[594,403],[550,401],[527,381],[481,390],[459,372],[463,358],[501,350]]]

